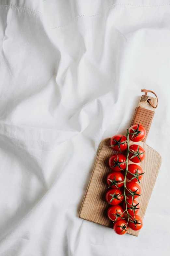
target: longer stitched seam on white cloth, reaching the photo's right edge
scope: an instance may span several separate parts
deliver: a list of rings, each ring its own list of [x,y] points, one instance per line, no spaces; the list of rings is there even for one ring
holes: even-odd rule
[[[110,8],[116,6],[116,5],[133,6],[133,7],[159,7],[159,6],[170,6],[170,4],[162,4],[162,5],[132,5],[132,4],[117,3],[117,4],[113,4],[113,5],[108,6],[108,7],[106,8],[106,10],[103,11],[103,12],[100,12],[100,13],[97,13],[97,14],[94,14],[94,15],[82,14],[82,15],[77,16],[76,18],[74,18],[72,21],[70,21],[70,22],[67,23],[67,24],[64,24],[64,25],[62,25],[62,26],[51,27],[51,28],[49,28],[49,29],[54,29],[54,28],[60,28],[60,27],[67,26],[67,25],[71,24],[72,22],[74,22],[75,20],[77,20],[78,18],[83,17],[83,16],[92,18],[92,17],[98,16],[98,15],[102,15],[102,14],[104,14],[104,13],[107,11],[107,9],[110,9]]]

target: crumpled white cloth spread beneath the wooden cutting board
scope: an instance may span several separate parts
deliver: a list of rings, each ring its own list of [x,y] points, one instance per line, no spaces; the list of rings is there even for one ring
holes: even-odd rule
[[[169,0],[0,1],[0,256],[169,255]],[[158,95],[138,237],[78,218],[100,141]]]

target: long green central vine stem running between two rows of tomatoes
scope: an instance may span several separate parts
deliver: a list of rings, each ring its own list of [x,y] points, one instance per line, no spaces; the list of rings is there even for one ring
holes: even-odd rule
[[[129,213],[128,213],[128,210],[127,210],[127,200],[126,200],[126,175],[128,173],[128,157],[129,157],[129,153],[131,152],[130,149],[129,149],[129,129],[126,130],[126,144],[127,144],[127,155],[126,155],[126,171],[125,171],[125,174],[124,174],[124,180],[123,180],[123,183],[124,183],[124,192],[123,192],[123,196],[124,196],[124,201],[125,201],[125,212],[127,213],[128,215],[128,219],[127,219],[127,224],[126,224],[126,227],[128,225],[128,222],[129,222],[129,216],[131,216]],[[134,199],[134,198],[133,198]],[[132,204],[133,204],[133,201],[132,200]],[[133,220],[135,220],[132,216],[131,218]]]

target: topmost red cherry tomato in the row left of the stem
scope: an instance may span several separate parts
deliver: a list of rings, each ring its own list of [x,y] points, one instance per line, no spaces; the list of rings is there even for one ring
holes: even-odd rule
[[[123,151],[127,148],[126,142],[123,143],[124,141],[126,141],[125,136],[120,135],[120,134],[116,134],[111,138],[110,146],[111,146],[112,149],[121,152],[121,151]]]

